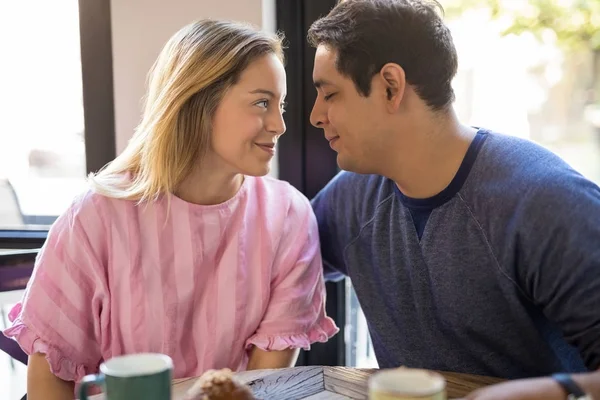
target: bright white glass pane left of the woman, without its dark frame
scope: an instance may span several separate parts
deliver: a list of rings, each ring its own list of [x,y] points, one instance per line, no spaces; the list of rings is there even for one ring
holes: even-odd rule
[[[35,11],[33,11],[35,10]],[[76,1],[0,3],[0,220],[49,225],[85,184]]]

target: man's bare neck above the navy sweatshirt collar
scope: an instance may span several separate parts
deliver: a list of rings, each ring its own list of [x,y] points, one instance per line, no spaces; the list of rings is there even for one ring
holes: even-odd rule
[[[414,144],[390,164],[386,174],[400,191],[424,199],[443,191],[456,176],[473,138],[474,128],[461,125],[454,113],[415,127]]]

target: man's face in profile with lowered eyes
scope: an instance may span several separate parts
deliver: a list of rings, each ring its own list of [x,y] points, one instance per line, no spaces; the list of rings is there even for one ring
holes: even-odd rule
[[[340,168],[357,173],[375,173],[378,154],[384,147],[387,119],[385,89],[374,84],[363,97],[354,82],[336,68],[336,51],[317,48],[313,81],[317,99],[310,122],[322,128],[329,145],[338,153]]]

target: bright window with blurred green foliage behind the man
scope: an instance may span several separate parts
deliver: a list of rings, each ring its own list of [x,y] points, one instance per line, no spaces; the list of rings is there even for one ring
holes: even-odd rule
[[[537,142],[600,183],[599,2],[444,3],[459,117]]]

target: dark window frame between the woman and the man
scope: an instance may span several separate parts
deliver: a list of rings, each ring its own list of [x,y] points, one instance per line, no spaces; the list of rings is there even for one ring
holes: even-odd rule
[[[286,38],[285,70],[287,102],[284,120],[287,131],[278,142],[279,179],[300,190],[309,199],[338,173],[337,157],[331,151],[323,131],[309,122],[316,99],[312,81],[315,49],[306,34],[313,21],[326,15],[337,0],[277,0],[277,30]],[[346,285],[328,282],[327,314],[340,332],[327,343],[312,345],[301,352],[297,365],[346,365]]]

